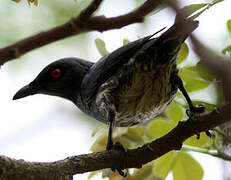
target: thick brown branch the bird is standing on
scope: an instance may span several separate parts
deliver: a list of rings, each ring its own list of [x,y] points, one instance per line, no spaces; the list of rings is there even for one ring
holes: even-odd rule
[[[74,174],[105,168],[140,168],[171,150],[181,149],[182,143],[189,137],[214,128],[231,119],[230,105],[219,111],[201,115],[198,120],[180,122],[167,135],[144,145],[143,147],[123,152],[111,150],[98,153],[73,156],[51,163],[32,163],[0,157],[0,179],[64,179]],[[145,154],[145,156],[144,156]]]

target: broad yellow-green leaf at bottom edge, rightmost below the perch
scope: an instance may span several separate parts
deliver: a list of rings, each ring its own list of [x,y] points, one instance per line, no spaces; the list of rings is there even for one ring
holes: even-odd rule
[[[187,153],[179,152],[173,168],[174,180],[202,180],[201,165]]]

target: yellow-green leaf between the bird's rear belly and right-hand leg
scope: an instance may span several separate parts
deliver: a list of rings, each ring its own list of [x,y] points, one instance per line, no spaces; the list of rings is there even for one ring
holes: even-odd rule
[[[173,101],[173,103],[166,109],[166,114],[169,119],[173,120],[175,124],[183,119],[184,113],[181,106]]]

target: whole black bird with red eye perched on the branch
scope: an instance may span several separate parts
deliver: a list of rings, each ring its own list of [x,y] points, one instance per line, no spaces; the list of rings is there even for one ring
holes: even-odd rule
[[[109,124],[107,150],[113,148],[114,126],[153,119],[171,104],[178,88],[189,104],[188,114],[202,112],[203,107],[192,104],[176,67],[182,43],[198,27],[198,21],[184,23],[190,27],[187,31],[175,23],[158,38],[138,39],[95,64],[78,58],[55,61],[13,99],[40,93],[72,101],[86,114]]]

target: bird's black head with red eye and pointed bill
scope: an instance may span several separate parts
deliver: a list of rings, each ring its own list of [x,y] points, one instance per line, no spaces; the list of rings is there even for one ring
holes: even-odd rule
[[[76,103],[81,82],[92,63],[78,58],[65,58],[45,67],[28,85],[13,97],[20,99],[33,94],[48,94],[69,99]]]

